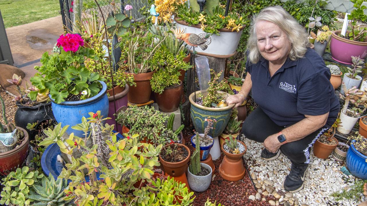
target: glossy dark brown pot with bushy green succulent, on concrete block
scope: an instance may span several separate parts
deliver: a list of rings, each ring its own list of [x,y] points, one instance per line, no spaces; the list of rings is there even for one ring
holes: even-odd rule
[[[180,84],[175,87],[165,88],[164,91],[160,94],[155,92],[154,96],[156,98],[158,107],[163,112],[173,112],[176,111],[181,102],[181,95],[183,84],[180,81]]]

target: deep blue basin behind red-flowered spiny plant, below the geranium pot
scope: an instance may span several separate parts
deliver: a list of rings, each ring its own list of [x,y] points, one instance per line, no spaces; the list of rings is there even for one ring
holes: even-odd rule
[[[113,131],[116,132],[116,131]],[[117,134],[117,140],[125,138],[120,133]],[[63,163],[57,161],[57,155],[61,155],[60,147],[57,144],[51,144],[46,148],[41,157],[41,167],[44,174],[48,177],[51,173],[55,180],[62,171]],[[99,173],[97,173],[97,179],[99,179]],[[86,180],[89,181],[89,177],[86,176]]]

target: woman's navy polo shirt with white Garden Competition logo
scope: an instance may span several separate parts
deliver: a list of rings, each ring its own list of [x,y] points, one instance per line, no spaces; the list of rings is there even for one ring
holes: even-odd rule
[[[324,60],[308,48],[305,57],[289,58],[270,77],[268,60],[261,57],[256,64],[249,60],[246,69],[251,74],[252,98],[277,125],[288,126],[305,115],[329,112],[326,126],[334,124],[339,113],[339,100],[330,83],[331,73]]]

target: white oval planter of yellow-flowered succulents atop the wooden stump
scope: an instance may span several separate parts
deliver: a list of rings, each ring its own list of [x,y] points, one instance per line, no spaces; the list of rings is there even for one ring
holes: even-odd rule
[[[187,26],[185,21],[178,21],[177,18],[175,20],[177,22],[177,27],[181,27],[181,30],[185,29],[185,33],[197,34],[201,38],[204,38],[207,34],[200,29],[199,25]],[[230,32],[231,30],[229,29],[220,29],[220,36],[213,34],[207,39],[207,43],[205,43],[208,46],[207,49],[202,50],[200,47],[196,47],[195,51],[204,56],[229,58],[236,54],[236,49],[244,27],[242,27],[242,30],[239,32]],[[186,48],[190,49],[191,46],[186,45]]]

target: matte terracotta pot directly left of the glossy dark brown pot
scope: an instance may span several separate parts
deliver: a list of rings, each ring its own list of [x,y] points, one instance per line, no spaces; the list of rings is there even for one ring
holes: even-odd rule
[[[127,99],[130,103],[141,104],[146,103],[150,100],[150,93],[152,93],[152,87],[150,87],[150,80],[152,79],[152,76],[155,72],[156,71],[144,74],[132,74],[132,76],[134,76],[134,82],[137,84],[137,86],[130,87],[130,90],[127,95]]]

